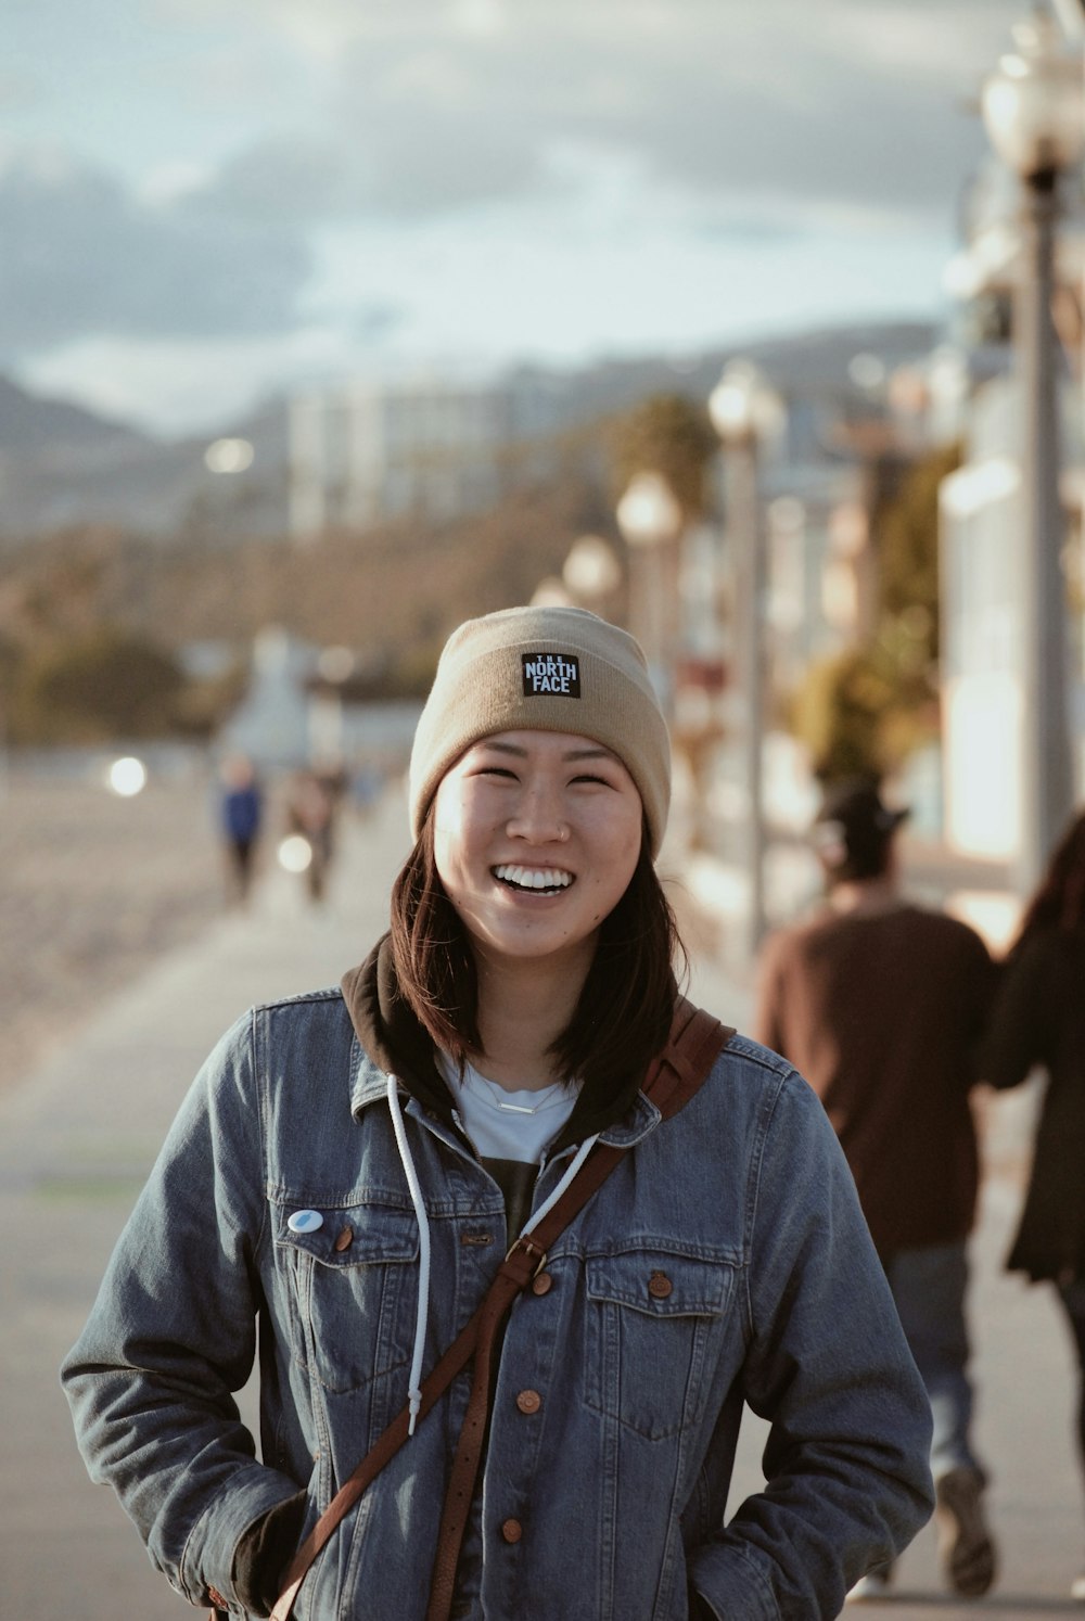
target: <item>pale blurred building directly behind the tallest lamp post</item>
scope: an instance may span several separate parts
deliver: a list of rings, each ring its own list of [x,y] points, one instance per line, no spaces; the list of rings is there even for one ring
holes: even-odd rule
[[[1014,287],[1020,272],[1015,182],[991,160],[962,212],[963,245],[947,284],[958,300],[954,344],[942,352],[941,428],[963,444],[960,468],[941,488],[942,707],[946,835],[967,856],[1009,861],[1019,849],[1023,770],[1020,569],[1023,443],[1020,386],[1012,370]],[[1082,199],[1069,199],[1056,261],[1062,504],[1072,590],[1075,682],[1070,725],[1079,789],[1085,739],[1082,663]]]

